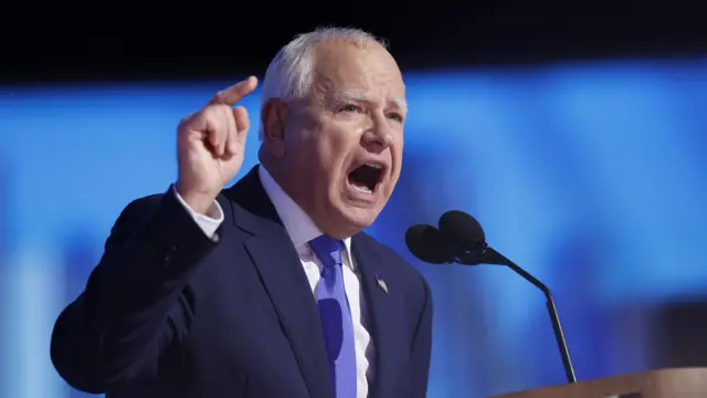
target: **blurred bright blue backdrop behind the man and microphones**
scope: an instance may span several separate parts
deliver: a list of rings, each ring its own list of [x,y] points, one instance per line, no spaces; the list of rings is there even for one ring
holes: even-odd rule
[[[51,365],[54,318],[120,210],[173,181],[179,119],[231,83],[0,87],[0,397],[81,396]],[[370,232],[431,283],[429,396],[564,381],[540,292],[503,268],[409,255],[405,229],[450,209],[552,289],[580,379],[661,366],[655,308],[707,287],[707,63],[439,71],[407,84],[403,176]],[[258,94],[244,101],[251,115]],[[256,160],[252,122],[241,176]]]

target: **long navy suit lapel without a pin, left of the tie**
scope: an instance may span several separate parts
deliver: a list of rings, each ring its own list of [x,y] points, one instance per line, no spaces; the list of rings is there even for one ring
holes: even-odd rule
[[[252,234],[245,249],[273,302],[310,396],[333,397],[334,387],[325,376],[329,367],[316,302],[299,255],[261,185],[257,166],[224,193],[240,206],[233,206],[233,223]]]

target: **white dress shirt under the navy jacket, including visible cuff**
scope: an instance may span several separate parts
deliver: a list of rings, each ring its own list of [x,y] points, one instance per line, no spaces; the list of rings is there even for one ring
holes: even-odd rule
[[[317,284],[321,277],[323,264],[309,248],[309,241],[320,237],[321,231],[314,224],[309,216],[295,203],[295,201],[279,187],[275,179],[262,165],[257,168],[258,177],[263,184],[265,192],[275,206],[275,210],[279,219],[289,234],[289,239],[299,253],[299,261],[309,281],[309,286],[315,297],[317,296]],[[223,210],[219,202],[214,201],[208,214],[204,216],[194,212],[177,193],[175,195],[179,202],[191,213],[194,221],[208,237],[213,237],[221,222],[223,222]],[[373,344],[371,336],[366,329],[368,317],[366,312],[366,303],[361,294],[361,287],[356,274],[356,264],[351,255],[351,239],[344,240],[346,253],[341,255],[344,262],[344,290],[349,300],[351,308],[351,318],[354,321],[354,337],[356,346],[356,369],[357,369],[357,397],[368,397],[368,379],[372,378],[372,358]],[[328,376],[323,375],[323,377]]]

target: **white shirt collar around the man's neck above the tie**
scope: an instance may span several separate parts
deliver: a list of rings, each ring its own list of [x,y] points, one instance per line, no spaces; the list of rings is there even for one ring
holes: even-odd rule
[[[257,175],[265,189],[265,193],[273,202],[277,216],[283,221],[283,226],[296,249],[307,244],[310,240],[323,235],[324,233],[315,226],[312,218],[297,205],[275,181],[273,176],[265,169],[263,165],[257,168]],[[351,259],[351,238],[344,239],[346,245],[346,255],[348,255],[349,264],[354,262]]]

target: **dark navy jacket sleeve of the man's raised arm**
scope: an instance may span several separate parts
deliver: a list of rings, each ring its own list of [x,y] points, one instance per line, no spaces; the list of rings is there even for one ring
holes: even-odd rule
[[[165,347],[189,332],[188,282],[217,244],[170,190],[116,220],[84,292],[59,316],[51,358],[72,387],[106,390],[154,376]]]

